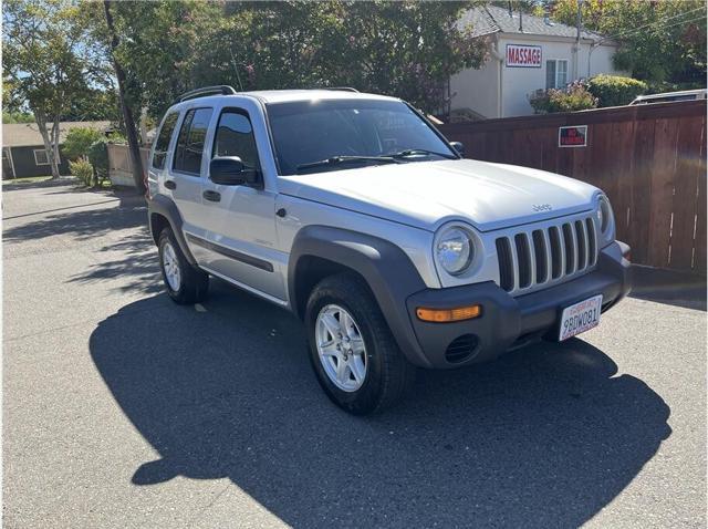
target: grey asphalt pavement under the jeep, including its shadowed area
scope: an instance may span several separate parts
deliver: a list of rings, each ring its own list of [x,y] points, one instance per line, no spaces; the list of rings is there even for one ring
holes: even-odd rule
[[[700,287],[355,418],[289,313],[169,301],[140,198],[2,198],[6,527],[706,526]]]

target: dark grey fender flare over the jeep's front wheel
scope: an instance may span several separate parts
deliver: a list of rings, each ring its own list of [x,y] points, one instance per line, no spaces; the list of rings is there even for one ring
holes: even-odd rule
[[[406,310],[406,299],[426,284],[410,261],[396,245],[366,234],[306,226],[295,236],[288,264],[288,293],[292,310],[304,315],[306,299],[299,299],[296,278],[303,257],[321,258],[348,268],[364,278],[391,328],[402,352],[419,366],[429,366],[416,339]],[[310,295],[310,292],[304,294]],[[301,298],[304,297],[301,294]]]

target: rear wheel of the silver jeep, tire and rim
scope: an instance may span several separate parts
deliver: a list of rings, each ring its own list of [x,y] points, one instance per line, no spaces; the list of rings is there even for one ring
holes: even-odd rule
[[[170,228],[164,228],[158,239],[159,264],[167,293],[175,303],[194,304],[209,292],[209,274],[189,264]]]

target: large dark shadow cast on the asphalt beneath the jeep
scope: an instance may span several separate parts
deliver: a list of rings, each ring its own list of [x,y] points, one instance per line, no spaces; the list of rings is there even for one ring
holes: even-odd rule
[[[581,340],[421,372],[399,406],[352,417],[320,391],[289,313],[220,281],[206,312],[163,298],[90,340],[160,455],[118,477],[138,486],[228,477],[293,527],[576,527],[671,433],[662,397]]]

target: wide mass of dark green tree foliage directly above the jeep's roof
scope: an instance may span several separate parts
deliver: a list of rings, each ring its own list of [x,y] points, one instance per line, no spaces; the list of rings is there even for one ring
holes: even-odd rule
[[[489,42],[456,25],[479,1],[112,2],[116,58],[128,102],[162,116],[175,98],[208,84],[237,90],[354,86],[445,104],[448,75],[478,66]],[[82,6],[84,6],[82,3]],[[107,48],[100,9],[86,2]]]

